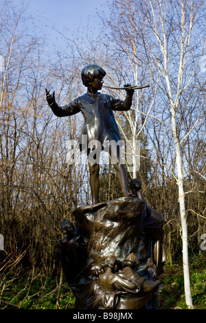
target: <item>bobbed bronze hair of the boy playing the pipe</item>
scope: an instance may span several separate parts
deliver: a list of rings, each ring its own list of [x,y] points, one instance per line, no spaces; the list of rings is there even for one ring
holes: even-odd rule
[[[87,65],[82,69],[82,82],[85,87],[89,87],[95,78],[104,78],[106,71],[98,65]]]

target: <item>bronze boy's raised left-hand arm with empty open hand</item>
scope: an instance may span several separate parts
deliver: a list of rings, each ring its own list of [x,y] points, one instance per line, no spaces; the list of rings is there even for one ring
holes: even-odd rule
[[[80,108],[76,100],[74,100],[73,102],[63,107],[59,107],[55,101],[55,92],[50,94],[49,91],[47,91],[47,89],[45,89],[45,91],[46,91],[46,99],[49,104],[49,107],[52,109],[52,111],[57,117],[66,117],[67,115],[74,115],[80,112]]]

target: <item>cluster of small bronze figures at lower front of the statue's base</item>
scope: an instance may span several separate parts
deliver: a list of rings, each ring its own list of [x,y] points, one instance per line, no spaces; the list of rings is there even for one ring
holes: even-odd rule
[[[91,268],[93,282],[88,287],[87,304],[93,309],[141,309],[159,287],[159,280],[150,281],[135,272],[135,254],[121,264],[109,256]],[[119,267],[123,265],[123,269]]]

